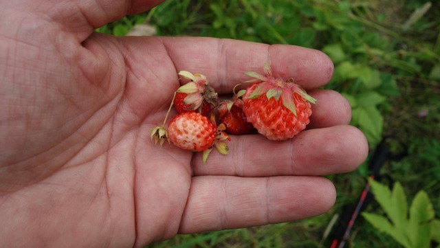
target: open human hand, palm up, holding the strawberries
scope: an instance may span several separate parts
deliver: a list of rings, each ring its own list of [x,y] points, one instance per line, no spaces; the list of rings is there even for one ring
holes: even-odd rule
[[[159,1],[2,1],[0,240],[6,247],[142,247],[175,234],[321,214],[336,192],[320,175],[366,157],[321,52],[214,38],[120,37],[94,28]],[[5,23],[8,23],[6,25]],[[230,155],[149,139],[177,71],[219,93],[261,71],[295,78],[319,102],[286,142],[232,136]]]

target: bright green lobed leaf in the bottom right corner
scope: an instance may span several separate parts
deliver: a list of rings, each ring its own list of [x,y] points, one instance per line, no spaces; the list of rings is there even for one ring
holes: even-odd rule
[[[370,183],[375,199],[388,216],[363,213],[371,225],[406,248],[428,248],[431,239],[437,240],[439,220],[434,220],[434,210],[426,192],[417,193],[408,214],[406,195],[400,183],[395,183],[393,191],[376,181]]]

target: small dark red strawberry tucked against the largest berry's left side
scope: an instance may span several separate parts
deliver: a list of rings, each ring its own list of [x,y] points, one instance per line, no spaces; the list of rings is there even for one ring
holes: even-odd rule
[[[237,87],[238,85],[236,85]],[[232,135],[244,135],[251,133],[254,126],[246,120],[246,115],[243,113],[243,100],[241,96],[244,95],[245,90],[235,93],[232,100],[227,100],[219,104],[220,123],[225,125],[225,131]]]

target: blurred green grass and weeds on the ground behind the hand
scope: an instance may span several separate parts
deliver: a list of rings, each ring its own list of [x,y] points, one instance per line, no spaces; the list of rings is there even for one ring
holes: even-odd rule
[[[432,214],[439,218],[438,16],[440,2],[423,0],[167,0],[149,12],[126,16],[98,31],[124,35],[137,23],[149,23],[165,36],[236,38],[324,51],[336,68],[326,88],[349,100],[352,124],[365,133],[371,149],[385,135],[393,135],[408,148],[408,155],[388,161],[382,174],[400,182],[399,190],[406,192],[408,202],[421,201],[417,192],[423,190],[422,200],[432,204]],[[366,165],[329,178],[336,184],[338,201],[322,216],[177,236],[149,247],[327,247],[322,241],[325,229],[342,205],[358,201],[367,181]],[[400,201],[407,204],[405,198]],[[386,205],[393,203],[378,202],[369,205],[367,212],[389,214]],[[360,217],[346,247],[401,247],[399,240],[381,231]]]

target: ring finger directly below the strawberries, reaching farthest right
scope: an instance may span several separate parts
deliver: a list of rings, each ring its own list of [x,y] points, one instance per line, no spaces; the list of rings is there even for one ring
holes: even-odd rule
[[[347,125],[306,130],[284,142],[273,142],[261,135],[232,136],[228,146],[229,155],[211,153],[206,164],[197,153],[192,159],[193,174],[238,177],[334,174],[354,170],[368,153],[364,134]]]

